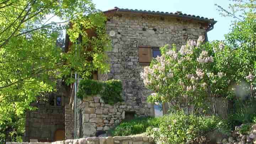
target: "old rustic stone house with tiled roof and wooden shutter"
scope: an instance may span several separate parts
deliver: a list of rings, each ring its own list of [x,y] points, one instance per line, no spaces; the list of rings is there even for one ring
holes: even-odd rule
[[[200,16],[159,11],[114,9],[105,11],[106,29],[112,38],[110,73],[94,74],[97,80],[120,79],[124,102],[105,105],[98,97],[78,100],[76,135],[89,137],[104,133],[122,119],[154,116],[154,106],[146,102],[146,89],[140,73],[152,58],[160,55],[159,47],[175,43],[177,48],[188,39],[196,40],[213,29],[216,21]],[[68,39],[68,38],[66,38]],[[68,43],[68,42],[67,42]],[[66,44],[68,45],[68,44]],[[49,102],[35,103],[38,110],[26,113],[25,141],[38,139],[52,142],[74,138],[73,91],[60,86]]]

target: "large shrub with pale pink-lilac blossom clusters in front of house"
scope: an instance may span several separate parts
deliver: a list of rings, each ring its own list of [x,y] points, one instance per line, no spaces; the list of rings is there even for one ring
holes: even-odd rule
[[[185,103],[192,112],[216,95],[232,95],[227,90],[234,68],[230,49],[224,43],[203,44],[204,39],[189,40],[180,50],[173,45],[160,48],[161,57],[152,60],[141,74],[144,84],[154,91],[149,102],[169,102],[175,108]],[[223,59],[225,58],[225,59]],[[214,106],[213,106],[214,107]],[[198,111],[197,111],[198,112]]]

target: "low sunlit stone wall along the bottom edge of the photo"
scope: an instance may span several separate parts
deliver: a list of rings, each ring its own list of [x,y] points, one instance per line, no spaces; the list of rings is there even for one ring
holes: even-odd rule
[[[69,139],[52,143],[15,143],[7,142],[6,144],[153,144],[151,137],[92,137],[81,139]]]

